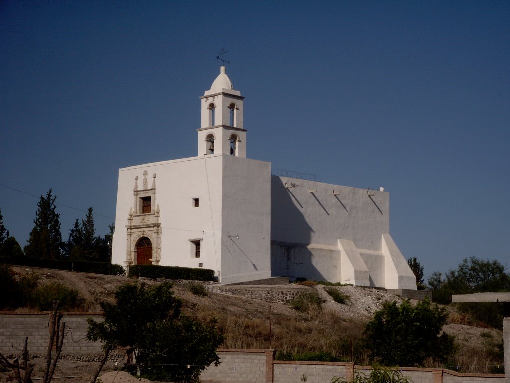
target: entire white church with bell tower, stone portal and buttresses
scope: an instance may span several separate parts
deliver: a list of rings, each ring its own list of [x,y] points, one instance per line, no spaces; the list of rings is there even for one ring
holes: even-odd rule
[[[271,175],[246,158],[243,97],[223,66],[200,101],[196,156],[119,169],[112,263],[207,268],[224,284],[416,290],[389,234],[388,192]]]

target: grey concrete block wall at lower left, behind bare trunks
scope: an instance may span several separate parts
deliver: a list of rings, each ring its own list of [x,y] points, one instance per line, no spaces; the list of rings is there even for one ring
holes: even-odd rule
[[[28,337],[28,349],[32,354],[46,353],[50,312],[42,313],[0,313],[0,349],[5,354],[19,354]],[[87,318],[102,320],[98,313],[65,314],[66,324],[63,353],[100,353],[102,344],[86,339]]]

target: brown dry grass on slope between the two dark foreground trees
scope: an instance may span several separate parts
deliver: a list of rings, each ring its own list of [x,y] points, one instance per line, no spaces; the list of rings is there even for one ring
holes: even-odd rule
[[[183,293],[176,291],[179,296]],[[214,293],[200,299],[196,296],[183,298],[188,314],[201,320],[216,318],[219,330],[225,335],[222,347],[271,347],[285,353],[323,352],[346,361],[351,360],[352,354],[356,361],[368,362],[359,347],[364,323],[342,319],[337,313],[321,310],[315,304],[304,312],[297,312],[283,303]]]

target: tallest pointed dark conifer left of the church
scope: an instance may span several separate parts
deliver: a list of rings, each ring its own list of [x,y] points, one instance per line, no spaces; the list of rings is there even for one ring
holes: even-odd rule
[[[37,204],[34,228],[30,232],[25,255],[32,258],[61,259],[62,234],[60,232],[60,214],[57,213],[52,189],[48,190],[46,197],[41,196]]]

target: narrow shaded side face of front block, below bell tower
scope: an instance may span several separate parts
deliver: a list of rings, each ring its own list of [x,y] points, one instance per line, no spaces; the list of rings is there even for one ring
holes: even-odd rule
[[[221,282],[269,278],[271,164],[225,155],[222,174]]]

